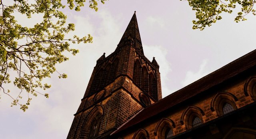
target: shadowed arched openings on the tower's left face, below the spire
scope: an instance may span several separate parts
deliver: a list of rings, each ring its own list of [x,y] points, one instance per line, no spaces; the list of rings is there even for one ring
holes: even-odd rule
[[[100,67],[100,69],[94,75],[90,88],[90,94],[95,93],[95,91],[102,89],[102,87],[113,81],[118,68],[118,61],[118,58],[116,58],[114,62],[108,63],[104,67]]]

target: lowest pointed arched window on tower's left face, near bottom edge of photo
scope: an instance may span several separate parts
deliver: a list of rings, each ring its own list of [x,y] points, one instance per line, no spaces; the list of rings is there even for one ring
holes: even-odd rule
[[[89,139],[92,137],[96,137],[100,131],[100,122],[101,122],[101,115],[98,113],[90,124],[90,132],[89,132]]]

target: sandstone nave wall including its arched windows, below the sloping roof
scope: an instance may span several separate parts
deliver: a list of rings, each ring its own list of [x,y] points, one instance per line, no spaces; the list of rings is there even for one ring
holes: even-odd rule
[[[245,95],[246,82],[246,79],[233,80],[227,86],[210,89],[113,137],[134,139],[140,135],[146,139],[169,139],[166,135],[171,131],[170,138],[177,139],[256,139],[256,102],[253,95]],[[253,89],[250,87],[250,91]],[[196,117],[199,122],[194,121]]]

